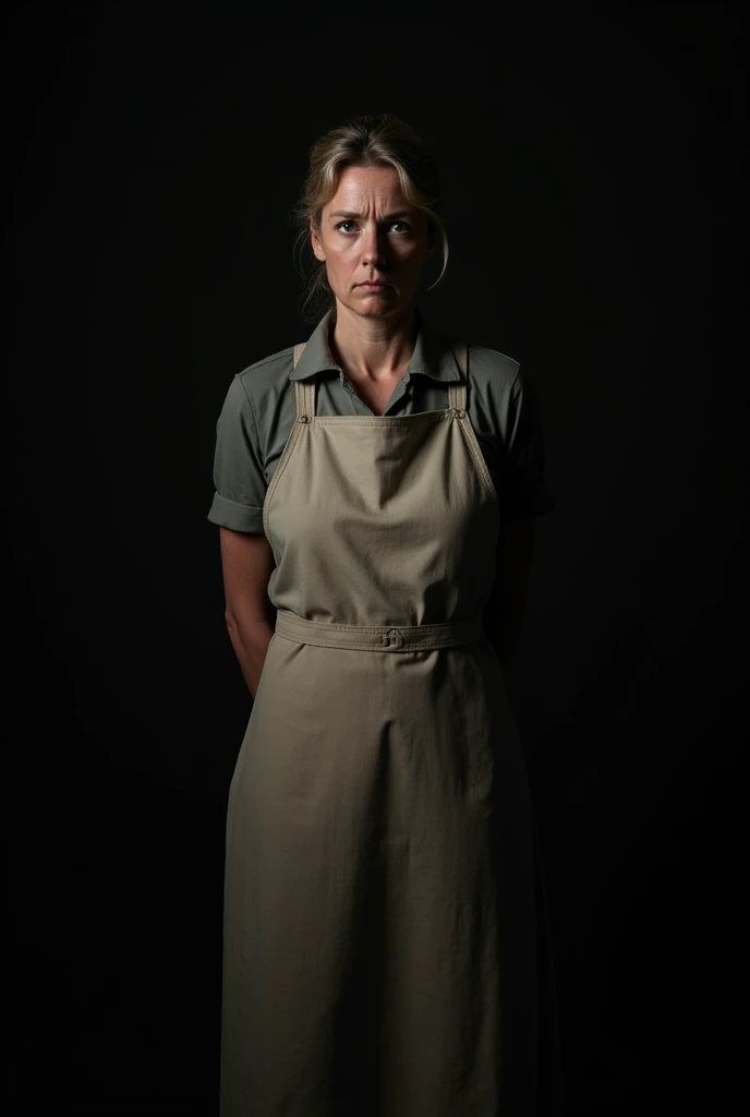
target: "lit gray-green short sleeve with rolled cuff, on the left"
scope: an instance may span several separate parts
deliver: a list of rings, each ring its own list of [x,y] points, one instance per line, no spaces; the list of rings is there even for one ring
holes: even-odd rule
[[[263,531],[267,481],[252,404],[241,375],[229,385],[217,422],[215,493],[208,518],[234,532]]]

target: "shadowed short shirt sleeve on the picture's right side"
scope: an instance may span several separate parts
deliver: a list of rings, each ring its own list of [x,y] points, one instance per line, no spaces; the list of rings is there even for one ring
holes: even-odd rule
[[[551,512],[555,502],[545,480],[545,445],[539,405],[528,372],[519,367],[508,401],[504,461],[499,494],[506,521]]]

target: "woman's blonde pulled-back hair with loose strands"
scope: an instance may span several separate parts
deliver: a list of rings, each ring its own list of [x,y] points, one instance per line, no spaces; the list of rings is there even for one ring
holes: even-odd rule
[[[335,305],[325,261],[318,260],[312,252],[310,221],[319,231],[323,207],[335,194],[339,174],[346,166],[373,165],[393,166],[408,204],[425,214],[430,241],[438,237],[443,251],[443,270],[432,286],[443,278],[448,265],[448,233],[439,213],[440,169],[432,149],[408,124],[390,113],[356,116],[312,144],[308,173],[299,201],[291,211],[299,227],[295,251],[301,246],[297,270],[306,280],[301,303],[302,317],[307,322],[317,321]],[[302,262],[306,248],[312,257],[309,273]]]

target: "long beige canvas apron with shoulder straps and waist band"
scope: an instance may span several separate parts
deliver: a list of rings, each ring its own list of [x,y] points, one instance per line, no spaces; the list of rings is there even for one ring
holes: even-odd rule
[[[221,1117],[538,1111],[546,913],[456,357],[441,411],[316,416],[295,382],[263,506],[276,631],[229,799]]]

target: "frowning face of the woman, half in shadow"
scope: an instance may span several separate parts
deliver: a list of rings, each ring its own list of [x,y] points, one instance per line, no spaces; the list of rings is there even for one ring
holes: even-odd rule
[[[412,305],[434,248],[425,214],[408,206],[393,166],[345,168],[310,237],[337,303],[368,318],[397,316]],[[367,279],[387,286],[360,286]]]

